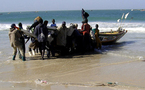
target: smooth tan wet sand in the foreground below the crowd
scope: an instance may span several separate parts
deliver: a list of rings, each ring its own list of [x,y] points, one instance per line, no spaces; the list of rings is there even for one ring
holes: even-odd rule
[[[45,57],[46,58],[46,57]],[[145,62],[101,54],[51,57],[27,55],[0,65],[2,90],[145,90]],[[45,82],[38,83],[37,79]],[[111,84],[110,84],[111,83]],[[116,83],[116,84],[112,84]]]

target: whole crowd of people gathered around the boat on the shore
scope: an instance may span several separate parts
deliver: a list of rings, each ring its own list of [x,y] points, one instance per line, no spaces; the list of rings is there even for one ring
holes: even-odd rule
[[[83,12],[82,12],[83,13]],[[86,14],[86,13],[85,13]],[[69,28],[66,27],[66,22],[63,21],[60,27],[57,27],[55,20],[52,20],[51,27],[55,27],[54,33],[48,31],[48,21],[38,16],[34,19],[34,23],[28,28],[28,30],[36,35],[37,38],[31,37],[31,43],[29,45],[29,54],[32,52],[35,54],[36,49],[39,48],[42,60],[44,60],[45,51],[47,50],[47,57],[50,57],[50,52],[52,56],[59,51],[61,55],[66,55],[70,52],[77,51],[84,53],[85,51],[95,48],[95,43],[92,42],[90,31],[91,26],[88,24],[88,14],[84,15],[84,20],[82,21],[81,29],[77,29],[77,24],[72,24]],[[96,25],[97,26],[97,25]],[[21,31],[22,24],[16,27],[15,24],[11,25],[9,38],[11,46],[14,49],[13,60],[15,60],[17,48],[20,52],[19,58],[23,61],[25,58],[25,34]],[[97,33],[98,26],[94,29],[94,33]],[[49,36],[53,39],[50,41]],[[98,37],[98,34],[96,35]],[[31,52],[32,51],[32,52]]]

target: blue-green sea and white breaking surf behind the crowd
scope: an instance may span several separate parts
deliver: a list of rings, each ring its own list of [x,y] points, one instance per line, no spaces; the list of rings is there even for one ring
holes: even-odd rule
[[[143,11],[130,11],[130,10],[86,10],[89,13],[89,24],[95,27],[95,24],[99,24],[100,30],[116,29],[120,25],[131,31],[135,31],[134,28],[143,30],[145,25],[145,12]],[[121,19],[122,14],[129,12],[126,20],[121,20],[117,23],[118,19]],[[56,24],[59,26],[61,22],[66,21],[69,26],[70,23],[78,23],[81,26],[81,10],[76,11],[39,11],[39,12],[7,12],[0,14],[0,31],[8,30],[12,23],[23,23],[23,27],[31,25],[35,17],[41,16],[43,20],[48,20],[49,25],[51,20],[55,19]]]

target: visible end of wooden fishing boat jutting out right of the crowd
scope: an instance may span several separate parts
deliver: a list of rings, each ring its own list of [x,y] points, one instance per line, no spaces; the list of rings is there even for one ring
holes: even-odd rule
[[[127,33],[127,30],[117,30],[110,32],[100,32],[99,38],[102,44],[112,44],[118,41]]]

